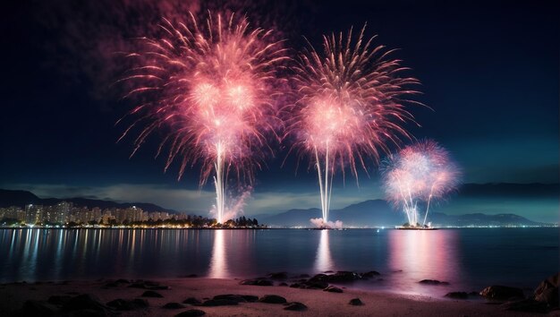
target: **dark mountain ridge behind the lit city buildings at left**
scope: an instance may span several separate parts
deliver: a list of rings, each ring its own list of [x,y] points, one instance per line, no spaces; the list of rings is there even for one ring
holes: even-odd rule
[[[125,209],[132,206],[136,206],[144,211],[154,212],[154,211],[166,211],[170,213],[176,213],[175,210],[168,210],[163,207],[157,206],[153,203],[148,202],[115,202],[115,201],[103,201],[95,200],[89,198],[38,198],[34,193],[27,191],[11,191],[0,189],[0,208],[6,208],[11,206],[18,206],[24,208],[25,205],[30,203],[36,205],[53,206],[60,201],[72,202],[75,206],[94,208],[98,207],[100,209],[107,208],[119,208]]]

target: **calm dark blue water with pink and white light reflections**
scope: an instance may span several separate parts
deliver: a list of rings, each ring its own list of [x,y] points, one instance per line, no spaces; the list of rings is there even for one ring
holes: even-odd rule
[[[441,296],[505,284],[529,292],[559,270],[559,241],[558,228],[0,229],[0,282],[378,270],[382,280],[354,287]],[[450,285],[420,285],[425,278]]]

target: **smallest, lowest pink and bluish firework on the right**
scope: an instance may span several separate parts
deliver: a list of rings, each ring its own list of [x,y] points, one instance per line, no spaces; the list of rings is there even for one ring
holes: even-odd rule
[[[382,172],[387,201],[403,207],[412,227],[420,225],[418,203],[426,202],[425,226],[431,201],[456,189],[461,176],[447,150],[430,140],[390,155]]]

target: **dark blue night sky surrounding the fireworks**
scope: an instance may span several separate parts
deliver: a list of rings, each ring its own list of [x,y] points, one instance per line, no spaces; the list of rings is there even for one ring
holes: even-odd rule
[[[322,34],[367,22],[367,35],[378,34],[375,44],[399,48],[394,56],[422,83],[418,100],[433,109],[411,106],[421,127],[407,128],[449,150],[463,183],[559,182],[555,2],[240,3],[229,7],[242,7],[236,11],[247,12],[254,24],[263,17],[294,50],[304,45],[302,35],[318,47]],[[154,159],[160,135],[129,159],[133,140],[117,143],[125,126],[115,122],[132,105],[112,85],[123,73],[117,50],[149,35],[161,16],[206,6],[124,0],[9,5],[0,21],[0,187],[208,210],[212,184],[199,190],[196,168],[177,182],[178,167],[164,174],[165,159]],[[294,157],[281,167],[285,156],[279,150],[259,171],[246,213],[318,207],[315,171],[307,161],[296,171]],[[369,176],[359,175],[360,187],[352,176],[345,184],[337,178],[334,208],[382,198],[378,167],[369,165]],[[557,203],[549,202],[541,218],[556,218]],[[448,206],[453,213],[453,201]]]

